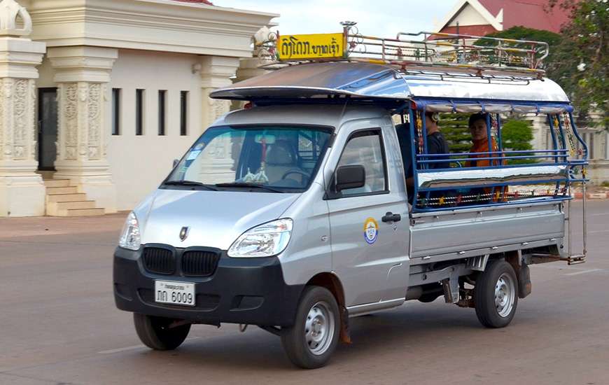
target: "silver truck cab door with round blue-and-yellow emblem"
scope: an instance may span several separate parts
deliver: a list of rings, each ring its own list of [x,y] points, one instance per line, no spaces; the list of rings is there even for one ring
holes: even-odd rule
[[[385,130],[350,130],[337,138],[342,153],[333,170],[343,165],[365,169],[365,186],[342,190],[328,199],[332,267],[342,281],[347,307],[404,300],[407,290],[409,221],[404,176],[393,126]]]

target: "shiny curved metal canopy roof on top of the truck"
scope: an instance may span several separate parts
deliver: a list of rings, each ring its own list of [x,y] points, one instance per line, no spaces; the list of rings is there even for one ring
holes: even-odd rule
[[[364,62],[317,62],[286,66],[211,92],[215,99],[296,99],[350,95],[365,99],[473,99],[504,102],[568,103],[552,80],[514,81],[458,74],[400,73],[391,66]]]

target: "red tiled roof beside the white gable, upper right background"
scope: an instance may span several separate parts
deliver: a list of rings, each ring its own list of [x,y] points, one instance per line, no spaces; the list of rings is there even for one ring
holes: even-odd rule
[[[479,0],[496,17],[503,8],[503,29],[515,26],[559,32],[568,22],[568,11],[556,6],[548,8],[548,0]]]

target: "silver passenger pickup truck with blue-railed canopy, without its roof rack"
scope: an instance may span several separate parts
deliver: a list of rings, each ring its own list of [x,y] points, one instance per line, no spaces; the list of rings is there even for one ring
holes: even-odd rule
[[[528,265],[585,258],[566,242],[585,148],[551,80],[463,83],[330,62],[212,97],[253,104],[197,139],[130,214],[114,254],[116,305],[152,349],[175,349],[194,323],[239,323],[279,335],[295,365],[320,367],[350,342],[350,317],[442,296],[501,328],[531,293]],[[508,110],[547,114],[555,148],[430,166],[427,113],[482,111],[500,139]],[[571,137],[583,156],[569,153]],[[523,183],[549,187],[510,187]]]

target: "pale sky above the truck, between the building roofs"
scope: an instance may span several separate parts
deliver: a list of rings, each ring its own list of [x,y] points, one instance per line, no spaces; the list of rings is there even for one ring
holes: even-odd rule
[[[358,22],[360,34],[395,37],[435,31],[457,0],[212,0],[215,6],[279,13],[281,34],[342,32],[339,22]]]

